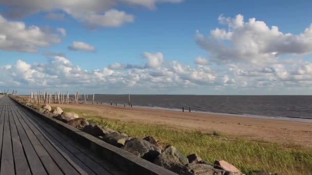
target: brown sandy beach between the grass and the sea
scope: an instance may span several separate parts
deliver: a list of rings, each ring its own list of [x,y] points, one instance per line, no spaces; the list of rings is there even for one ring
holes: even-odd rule
[[[226,135],[244,136],[249,139],[278,143],[298,144],[312,147],[312,123],[188,113],[143,107],[124,107],[92,104],[51,104],[90,110],[99,116],[123,121],[168,124],[170,126],[196,129],[203,132],[218,131]]]

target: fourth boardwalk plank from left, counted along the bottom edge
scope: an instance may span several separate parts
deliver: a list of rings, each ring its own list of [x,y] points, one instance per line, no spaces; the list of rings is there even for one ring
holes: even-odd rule
[[[21,114],[19,114],[18,110],[14,110],[17,116],[17,120],[21,123],[22,127],[25,130],[25,133],[32,144],[36,154],[40,158],[43,166],[49,174],[63,174],[61,169],[56,165],[53,159],[48,154],[47,150],[43,147],[43,145],[38,141],[36,136],[33,134],[32,130],[28,127],[28,125],[21,119]]]

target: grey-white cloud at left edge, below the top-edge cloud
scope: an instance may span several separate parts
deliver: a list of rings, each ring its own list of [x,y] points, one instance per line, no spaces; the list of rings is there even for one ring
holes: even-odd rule
[[[22,21],[9,21],[0,15],[0,49],[37,52],[38,47],[60,43],[59,35],[37,26],[26,26]]]

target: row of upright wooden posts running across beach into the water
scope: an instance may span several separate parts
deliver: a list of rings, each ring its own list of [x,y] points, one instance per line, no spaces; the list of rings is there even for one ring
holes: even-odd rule
[[[79,92],[75,92],[74,99],[71,98],[71,102],[69,102],[69,92],[67,91],[66,95],[65,93],[58,91],[55,92],[54,95],[52,95],[52,91],[31,91],[30,96],[29,96],[29,101],[32,103],[46,103],[46,104],[51,104],[51,102],[54,103],[59,103],[59,104],[68,104],[74,102],[75,104],[83,104],[80,103],[79,101],[82,101],[82,94]],[[88,94],[84,94],[84,103],[87,104],[88,100]],[[94,104],[94,94],[92,97],[92,104]],[[96,104],[99,104],[98,101],[96,101]],[[102,104],[102,101],[101,101]],[[110,101],[110,105],[113,104],[113,101]],[[132,107],[132,102],[130,101],[130,94],[129,94],[129,107]],[[117,106],[117,101],[116,101],[116,106]],[[124,103],[124,107],[126,107],[126,103]],[[191,112],[191,106],[188,107],[188,111]],[[182,112],[184,112],[184,106],[182,107]]]

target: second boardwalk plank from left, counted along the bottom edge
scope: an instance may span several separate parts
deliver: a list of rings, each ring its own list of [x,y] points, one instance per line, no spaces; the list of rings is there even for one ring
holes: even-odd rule
[[[16,125],[13,119],[13,115],[15,115],[15,113],[13,113],[12,110],[13,110],[13,107],[10,107],[9,121],[10,121],[10,126],[11,126],[11,138],[12,138],[15,172],[16,174],[31,174],[29,166],[28,166],[28,162],[26,159],[26,155],[23,150],[21,140],[19,139]]]

